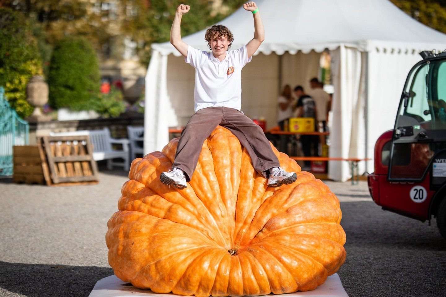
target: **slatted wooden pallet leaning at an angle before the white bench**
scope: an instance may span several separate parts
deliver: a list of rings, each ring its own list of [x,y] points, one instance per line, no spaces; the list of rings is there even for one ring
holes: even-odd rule
[[[48,185],[98,183],[98,168],[88,136],[45,136],[38,139],[38,146]]]

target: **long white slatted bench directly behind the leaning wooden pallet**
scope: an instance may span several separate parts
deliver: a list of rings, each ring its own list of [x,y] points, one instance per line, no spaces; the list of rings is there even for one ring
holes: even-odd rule
[[[50,132],[50,136],[71,136],[71,135],[89,135],[90,142],[93,145],[93,159],[95,161],[107,160],[107,169],[113,169],[113,166],[122,166],[125,171],[130,169],[128,159],[128,139],[111,138],[110,130],[105,127],[100,130],[78,130],[67,132]],[[114,150],[113,144],[120,144],[121,150]],[[113,159],[123,159],[124,161],[116,161]]]

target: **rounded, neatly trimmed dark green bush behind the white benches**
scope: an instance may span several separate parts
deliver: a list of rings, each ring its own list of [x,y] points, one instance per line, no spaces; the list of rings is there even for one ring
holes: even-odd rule
[[[58,42],[51,57],[48,86],[53,108],[94,109],[100,89],[99,62],[87,40],[65,37]]]

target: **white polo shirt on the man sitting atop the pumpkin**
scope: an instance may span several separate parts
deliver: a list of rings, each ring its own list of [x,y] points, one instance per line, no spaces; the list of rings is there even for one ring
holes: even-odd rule
[[[195,68],[195,111],[211,106],[241,109],[242,68],[251,61],[246,45],[228,51],[221,62],[212,53],[189,45],[184,60]]]

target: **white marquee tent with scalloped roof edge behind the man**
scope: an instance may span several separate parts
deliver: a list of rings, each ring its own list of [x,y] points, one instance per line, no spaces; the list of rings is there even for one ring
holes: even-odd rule
[[[376,139],[392,129],[409,69],[422,50],[443,51],[446,35],[418,23],[388,0],[257,0],[265,41],[243,69],[242,110],[276,126],[277,97],[285,84],[308,88],[317,77],[320,53],[331,55],[335,93],[331,157],[373,158]],[[194,13],[194,7],[190,8]],[[187,18],[187,14],[183,16]],[[252,39],[250,12],[239,8],[219,22],[234,34],[231,49]],[[183,37],[207,50],[204,32]],[[153,44],[146,75],[145,153],[161,150],[169,126],[183,126],[194,113],[194,68],[169,42]],[[360,164],[372,172],[372,161]],[[347,162],[329,164],[329,177],[351,177]]]

